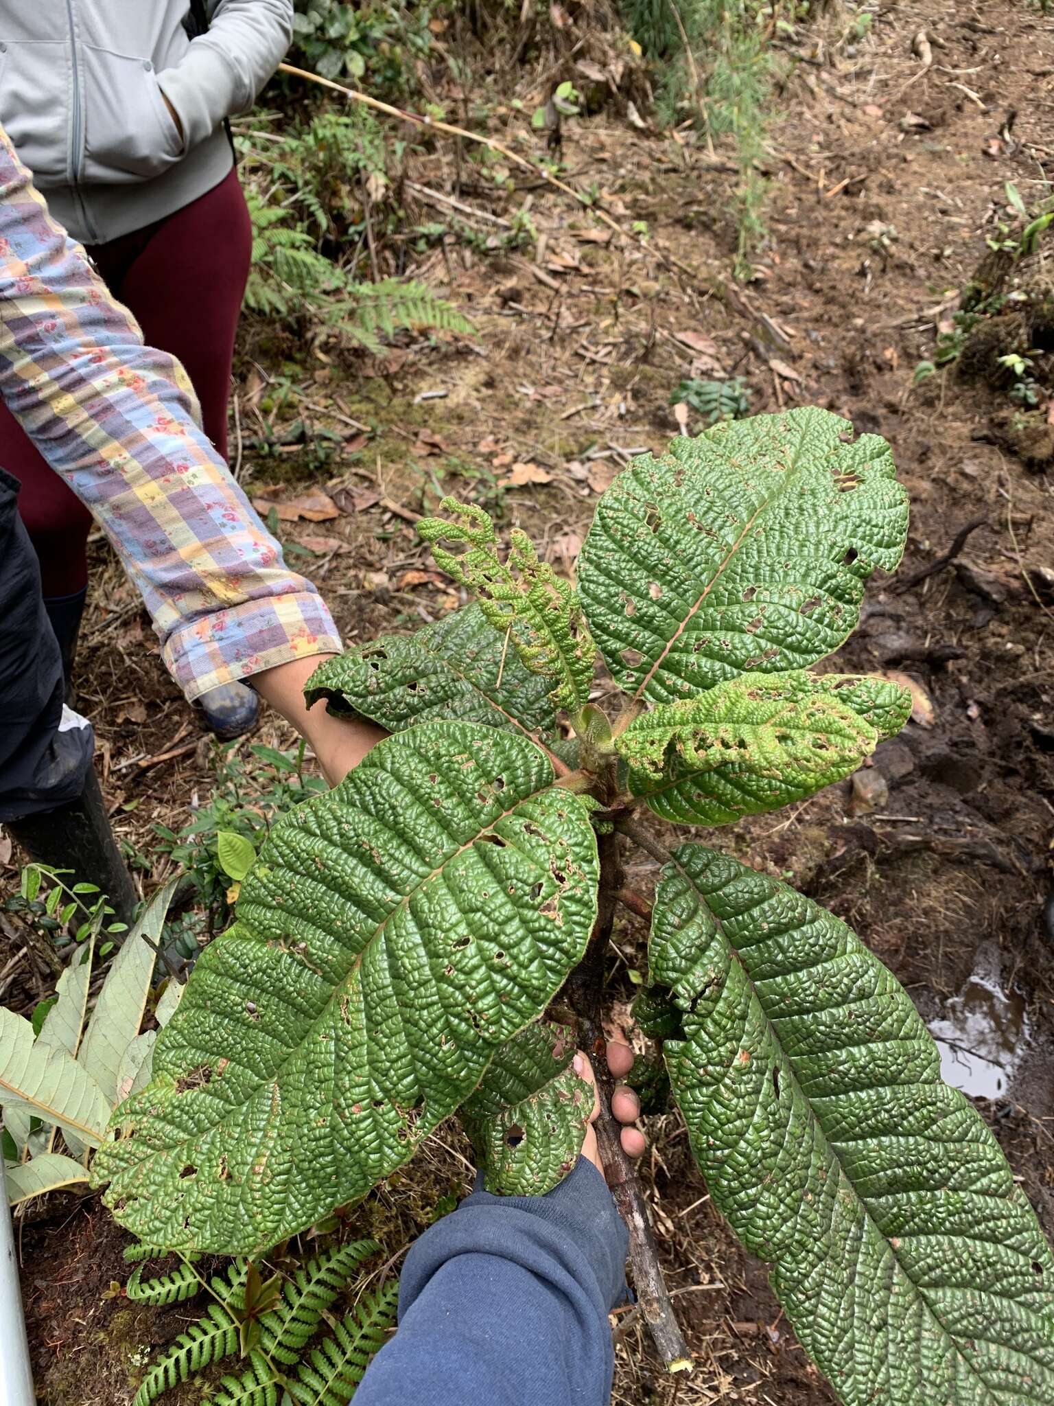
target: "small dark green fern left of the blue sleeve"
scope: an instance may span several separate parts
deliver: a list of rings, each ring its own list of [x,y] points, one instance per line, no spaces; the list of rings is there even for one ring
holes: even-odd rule
[[[132,1406],[150,1406],[170,1388],[235,1355],[246,1360],[245,1368],[223,1375],[209,1395],[221,1406],[347,1406],[392,1326],[398,1282],[358,1295],[340,1319],[329,1310],[351,1288],[363,1260],[378,1249],[372,1240],[354,1240],[326,1250],[298,1267],[284,1285],[278,1275],[263,1279],[259,1267],[245,1258],[208,1281],[197,1270],[197,1256],[184,1254],[176,1270],[146,1281],[141,1264],[125,1285],[131,1301],[183,1303],[207,1292],[211,1302],[150,1367]],[[164,1253],[139,1244],[125,1250],[125,1258]],[[329,1329],[325,1336],[323,1322]]]

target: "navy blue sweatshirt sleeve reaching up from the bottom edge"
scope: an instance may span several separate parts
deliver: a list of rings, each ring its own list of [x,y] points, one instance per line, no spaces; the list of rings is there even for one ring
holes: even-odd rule
[[[398,1331],[354,1406],[606,1406],[625,1253],[585,1157],[545,1197],[474,1191],[410,1249]]]

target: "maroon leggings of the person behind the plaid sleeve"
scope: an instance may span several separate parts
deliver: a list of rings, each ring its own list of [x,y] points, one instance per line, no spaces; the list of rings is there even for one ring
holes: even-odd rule
[[[135,314],[148,346],[178,357],[201,402],[205,433],[226,458],[235,332],[253,231],[238,174],[131,235],[89,253],[110,291]],[[18,512],[41,562],[45,599],[87,585],[91,515],[48,467],[0,402],[0,467],[21,482]]]

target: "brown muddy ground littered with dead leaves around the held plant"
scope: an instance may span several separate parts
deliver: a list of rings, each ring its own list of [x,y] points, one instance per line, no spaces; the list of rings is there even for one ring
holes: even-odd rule
[[[925,72],[912,52],[922,28],[935,41]],[[413,530],[438,491],[499,509],[569,567],[597,492],[632,453],[677,432],[669,398],[689,374],[745,377],[753,411],[818,404],[887,436],[912,501],[908,551],[895,581],[873,582],[838,662],[906,675],[915,718],[880,748],[863,782],[721,842],[849,920],[923,1017],[942,1022],[947,1076],[978,1095],[1054,1233],[1054,931],[1044,922],[1054,595],[1043,569],[1054,568],[1051,478],[999,443],[992,416],[998,423],[1006,409],[1003,391],[954,368],[912,384],[916,364],[933,356],[947,294],[1006,218],[1005,183],[1034,204],[1054,180],[1054,21],[1010,0],[887,4],[835,66],[805,58],[780,94],[770,240],[749,287],[722,291],[734,176],[686,132],[641,132],[613,108],[564,125],[571,179],[596,181],[624,229],[646,221],[644,247],[542,187],[530,191],[537,247],[503,249],[505,226],[493,221],[509,219],[524,193],[496,195],[464,163],[455,184],[450,149],[423,156],[417,186],[490,217],[460,217],[441,200],[419,209],[450,229],[444,247],[417,256],[423,274],[469,312],[478,336],[416,340],[381,364],[247,329],[239,472],[250,495],[270,488],[287,502],[327,486],[349,509],[281,530],[313,547],[316,555],[294,560],[319,581],[353,643],[457,605],[429,575]],[[524,94],[537,79],[524,73]],[[462,238],[455,218],[479,238]],[[482,247],[486,238],[499,247]],[[298,387],[295,404],[275,398],[280,374]],[[309,437],[319,427],[341,436],[339,454],[319,463],[309,446],[260,453],[297,418]],[[912,583],[975,519],[958,558]],[[208,748],[101,544],[96,568],[80,696],[118,830],[145,849],[153,820],[184,823],[191,800],[208,793]],[[264,733],[288,741],[274,727]],[[635,880],[646,890],[648,870]],[[630,965],[639,962],[635,920],[617,943]],[[616,994],[628,998],[628,981],[623,990],[617,979]],[[27,981],[7,1000],[32,997]],[[677,1116],[649,1133],[645,1178],[698,1369],[663,1381],[630,1320],[614,1399],[833,1400],[763,1271],[710,1208]],[[444,1129],[416,1184],[403,1178],[363,1208],[391,1253],[424,1223],[430,1199],[461,1184],[457,1137]],[[128,1400],[143,1344],[174,1336],[187,1310],[132,1312],[101,1298],[124,1265],[119,1233],[94,1202],[52,1202],[21,1236],[41,1398]]]

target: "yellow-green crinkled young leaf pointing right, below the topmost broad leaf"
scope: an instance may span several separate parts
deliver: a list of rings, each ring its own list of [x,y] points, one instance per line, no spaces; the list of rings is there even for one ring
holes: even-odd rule
[[[888,679],[742,673],[644,713],[616,748],[656,815],[727,825],[847,776],[909,713],[906,689]]]

